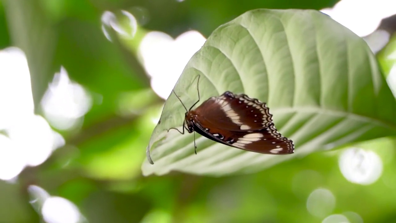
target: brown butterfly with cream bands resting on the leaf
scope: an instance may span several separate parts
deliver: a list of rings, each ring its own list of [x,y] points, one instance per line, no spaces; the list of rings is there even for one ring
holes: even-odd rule
[[[226,91],[220,96],[209,98],[192,110],[200,101],[199,78],[200,76],[197,83],[198,101],[188,110],[172,90],[186,113],[183,131],[171,129],[176,129],[183,135],[185,130],[188,133],[197,132],[215,142],[251,152],[278,155],[294,153],[293,141],[276,130],[267,105],[255,98],[249,98],[246,94]],[[195,135],[194,148],[196,154]]]

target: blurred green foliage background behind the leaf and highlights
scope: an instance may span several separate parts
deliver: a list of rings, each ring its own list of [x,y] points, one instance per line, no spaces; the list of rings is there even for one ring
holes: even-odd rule
[[[0,181],[0,222],[40,221],[29,204],[30,184],[74,202],[94,223],[316,223],[326,216],[308,213],[307,198],[319,187],[329,189],[336,198],[335,209],[328,214],[353,211],[364,222],[394,221],[396,142],[391,138],[369,144],[383,159],[384,171],[368,186],[350,183],[341,175],[337,162],[340,151],[311,154],[250,175],[211,178],[170,173],[143,177],[140,167],[154,129],[152,119],[158,117],[163,100],[150,90],[135,48],[117,38],[110,42],[101,31],[100,18],[105,10],[136,6],[148,12],[142,32],[159,30],[175,37],[196,29],[208,37],[219,25],[247,10],[321,9],[336,2],[0,1],[0,48],[18,46],[25,51],[36,112],[41,112],[40,99],[60,65],[72,80],[93,93],[94,100],[81,129],[62,132],[66,146],[42,165],[25,169],[16,183]],[[130,97],[136,92],[149,103]],[[129,113],[120,113],[120,100]]]

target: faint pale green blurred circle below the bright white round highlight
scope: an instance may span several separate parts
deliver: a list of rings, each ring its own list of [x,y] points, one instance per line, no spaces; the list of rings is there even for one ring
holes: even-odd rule
[[[333,212],[335,196],[330,190],[318,188],[311,192],[307,199],[307,210],[311,215],[324,217]]]

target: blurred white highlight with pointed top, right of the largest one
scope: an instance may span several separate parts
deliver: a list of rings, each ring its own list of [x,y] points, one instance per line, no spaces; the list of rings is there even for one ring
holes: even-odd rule
[[[81,85],[70,81],[63,67],[55,74],[41,101],[46,119],[62,130],[78,125],[91,105],[91,96]]]

